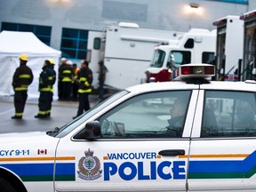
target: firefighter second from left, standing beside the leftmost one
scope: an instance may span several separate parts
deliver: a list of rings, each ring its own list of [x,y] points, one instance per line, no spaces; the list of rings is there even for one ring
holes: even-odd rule
[[[39,76],[39,111],[35,118],[51,116],[53,84],[56,81],[56,73],[52,69],[52,65],[54,65],[52,59],[44,60],[43,71]]]

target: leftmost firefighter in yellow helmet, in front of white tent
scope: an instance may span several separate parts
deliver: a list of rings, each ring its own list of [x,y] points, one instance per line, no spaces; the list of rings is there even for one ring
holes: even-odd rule
[[[26,101],[28,99],[28,85],[33,82],[33,73],[28,68],[28,55],[20,55],[20,67],[16,68],[12,77],[12,87],[14,90],[15,116],[12,119],[22,119]]]

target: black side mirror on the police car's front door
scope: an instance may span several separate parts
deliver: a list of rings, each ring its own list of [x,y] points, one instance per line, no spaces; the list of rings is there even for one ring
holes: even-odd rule
[[[84,127],[84,139],[85,140],[95,140],[100,138],[101,130],[100,130],[100,122],[92,121],[85,124]]]

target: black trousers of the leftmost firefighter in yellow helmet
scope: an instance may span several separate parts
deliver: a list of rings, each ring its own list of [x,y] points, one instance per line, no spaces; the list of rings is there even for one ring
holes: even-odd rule
[[[15,116],[23,116],[26,101],[28,99],[27,91],[19,91],[14,93]]]

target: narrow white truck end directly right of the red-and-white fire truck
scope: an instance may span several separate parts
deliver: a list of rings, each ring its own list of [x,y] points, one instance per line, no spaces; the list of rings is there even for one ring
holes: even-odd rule
[[[244,21],[239,16],[228,15],[214,21],[213,25],[217,27],[216,80],[239,80],[239,62],[243,59]]]

